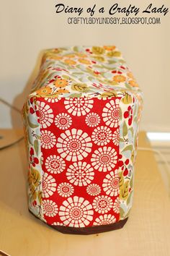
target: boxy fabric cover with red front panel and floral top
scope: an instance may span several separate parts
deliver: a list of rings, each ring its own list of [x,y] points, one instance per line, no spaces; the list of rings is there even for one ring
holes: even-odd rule
[[[72,228],[128,218],[142,101],[115,46],[45,51],[23,107],[35,216]]]

